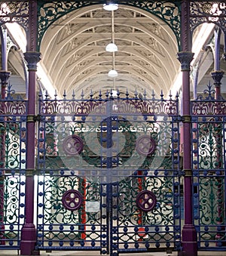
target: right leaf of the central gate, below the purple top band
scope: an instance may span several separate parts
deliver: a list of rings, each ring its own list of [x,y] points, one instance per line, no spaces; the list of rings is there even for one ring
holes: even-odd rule
[[[125,177],[124,171],[117,172],[118,183],[111,187],[113,255],[133,251],[179,251],[178,123],[160,111],[158,116],[145,116],[145,120],[139,119],[139,113],[133,113],[132,119],[136,122],[130,121],[133,126],[127,127],[127,133],[133,134],[135,130],[136,140],[128,136],[130,143],[118,154],[118,158],[124,159],[127,152],[129,160],[124,163],[124,170],[128,173]],[[133,155],[129,148],[134,150]]]

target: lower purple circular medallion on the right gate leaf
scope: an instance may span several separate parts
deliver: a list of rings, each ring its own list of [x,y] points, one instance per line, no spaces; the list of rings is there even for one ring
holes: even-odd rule
[[[156,203],[156,196],[149,190],[142,190],[136,196],[136,206],[142,211],[151,211]]]

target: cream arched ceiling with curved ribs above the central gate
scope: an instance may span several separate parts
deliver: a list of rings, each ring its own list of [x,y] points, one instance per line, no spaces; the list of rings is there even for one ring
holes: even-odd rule
[[[119,6],[114,11],[115,69],[108,77],[113,54],[111,11],[101,5],[81,8],[53,23],[41,42],[41,62],[58,94],[89,94],[118,88],[120,91],[154,90],[167,94],[180,70],[176,36],[163,20],[138,8]]]

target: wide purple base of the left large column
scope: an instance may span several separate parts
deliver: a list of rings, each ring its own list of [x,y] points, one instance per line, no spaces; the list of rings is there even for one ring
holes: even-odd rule
[[[24,224],[21,230],[20,255],[39,255],[39,251],[35,251],[35,244],[35,225]]]

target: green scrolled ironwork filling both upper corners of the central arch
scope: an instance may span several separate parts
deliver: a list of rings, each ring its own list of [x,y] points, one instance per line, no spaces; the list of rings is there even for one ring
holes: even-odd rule
[[[60,17],[90,5],[102,5],[105,1],[38,1],[38,51],[44,32]],[[181,41],[181,1],[118,1],[120,5],[133,6],[159,17],[173,30],[178,46]]]

